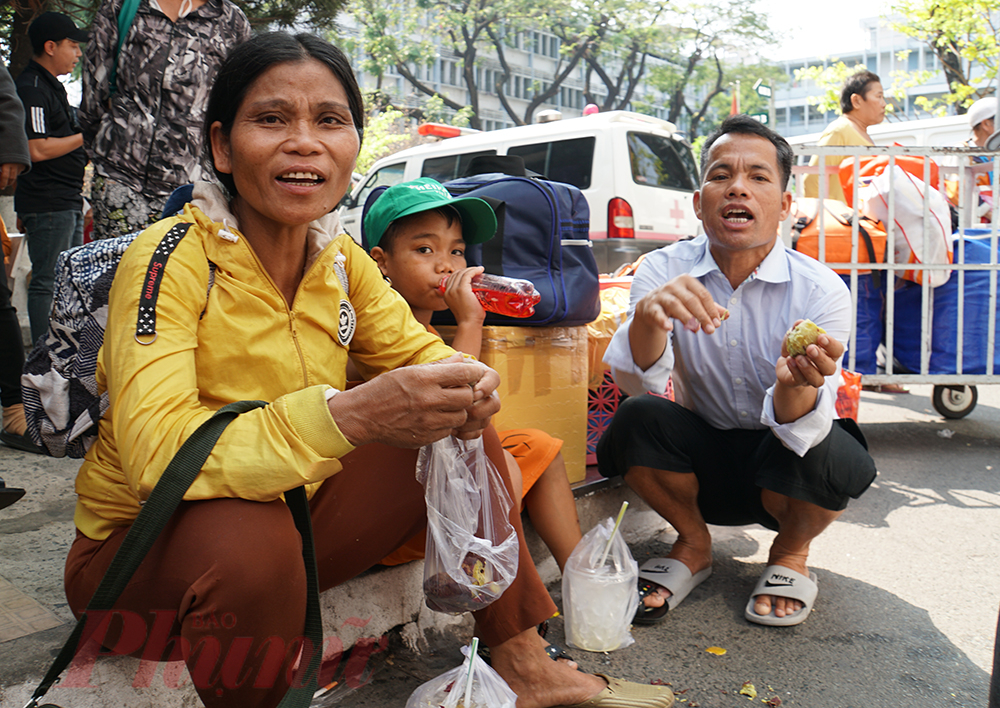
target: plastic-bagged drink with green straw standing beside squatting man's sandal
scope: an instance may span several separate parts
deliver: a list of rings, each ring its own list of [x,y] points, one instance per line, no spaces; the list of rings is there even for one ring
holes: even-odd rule
[[[614,651],[632,644],[629,627],[639,608],[639,566],[620,533],[605,519],[573,549],[563,570],[566,643],[584,651]]]

